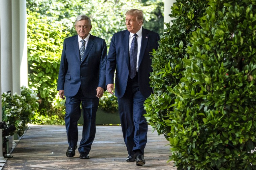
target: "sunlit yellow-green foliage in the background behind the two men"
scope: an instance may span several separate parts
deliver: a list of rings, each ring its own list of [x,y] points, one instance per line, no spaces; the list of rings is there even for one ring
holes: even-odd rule
[[[77,34],[77,15],[91,17],[91,34],[104,38],[107,45],[114,33],[126,29],[125,12],[132,8],[143,10],[145,28],[163,30],[162,0],[27,0],[27,8],[28,78],[39,96],[34,120],[39,124],[64,123],[65,108],[56,103],[57,79],[63,41]]]

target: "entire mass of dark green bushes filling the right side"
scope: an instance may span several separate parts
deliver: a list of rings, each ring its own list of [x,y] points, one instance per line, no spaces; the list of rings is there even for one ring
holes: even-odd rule
[[[178,170],[256,169],[255,0],[177,0],[170,16],[153,52],[147,120]]]

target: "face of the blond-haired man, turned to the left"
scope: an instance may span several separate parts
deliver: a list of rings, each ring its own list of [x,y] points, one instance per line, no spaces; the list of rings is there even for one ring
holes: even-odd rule
[[[127,30],[130,33],[135,34],[141,28],[142,20],[138,21],[137,16],[135,15],[126,15],[125,23],[126,23]]]

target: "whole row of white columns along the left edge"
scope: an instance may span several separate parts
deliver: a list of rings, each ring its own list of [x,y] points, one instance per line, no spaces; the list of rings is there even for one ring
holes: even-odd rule
[[[1,94],[21,94],[28,85],[26,0],[0,1],[0,89]],[[0,106],[1,95],[0,95]],[[2,109],[0,109],[2,122]],[[0,130],[0,160],[4,160]]]

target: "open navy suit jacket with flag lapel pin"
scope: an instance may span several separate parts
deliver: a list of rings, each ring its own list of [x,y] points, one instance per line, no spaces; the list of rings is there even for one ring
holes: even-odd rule
[[[114,84],[115,79],[115,95],[123,97],[128,76],[129,76],[129,36],[128,30],[115,33],[111,39],[106,64],[106,85]],[[141,47],[138,63],[138,84],[139,90],[144,97],[149,97],[153,92],[149,85],[149,76],[152,72],[151,62],[153,49],[157,49],[160,37],[159,34],[142,28]]]

